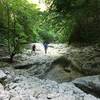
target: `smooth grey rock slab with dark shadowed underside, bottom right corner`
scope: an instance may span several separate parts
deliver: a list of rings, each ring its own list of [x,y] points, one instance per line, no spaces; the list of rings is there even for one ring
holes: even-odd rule
[[[85,92],[100,97],[100,75],[78,78],[73,83]]]

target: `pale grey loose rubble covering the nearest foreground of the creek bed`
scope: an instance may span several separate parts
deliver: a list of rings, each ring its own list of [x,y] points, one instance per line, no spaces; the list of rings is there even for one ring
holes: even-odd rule
[[[0,100],[99,100],[84,93],[72,82],[58,84],[29,75],[16,76],[12,69],[9,70],[0,70]]]

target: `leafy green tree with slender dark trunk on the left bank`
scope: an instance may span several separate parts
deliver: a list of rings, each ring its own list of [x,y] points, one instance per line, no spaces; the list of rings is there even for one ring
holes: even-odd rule
[[[7,45],[10,62],[13,62],[13,57],[21,51],[24,44],[32,40],[33,26],[37,23],[39,9],[27,0],[4,0],[2,5],[3,42]]]

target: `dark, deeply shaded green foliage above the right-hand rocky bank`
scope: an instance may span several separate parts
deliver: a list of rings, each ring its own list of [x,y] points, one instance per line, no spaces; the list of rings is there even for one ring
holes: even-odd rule
[[[54,25],[58,28],[57,31],[61,30],[60,33],[65,34],[69,43],[95,43],[100,41],[99,0],[50,1],[52,3],[50,12],[57,13]]]

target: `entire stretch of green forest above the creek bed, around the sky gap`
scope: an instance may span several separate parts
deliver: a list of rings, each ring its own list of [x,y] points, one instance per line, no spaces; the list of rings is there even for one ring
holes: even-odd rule
[[[13,56],[31,42],[94,44],[100,41],[99,0],[0,1],[0,44]]]

